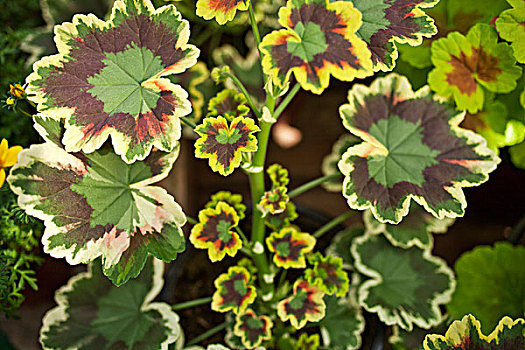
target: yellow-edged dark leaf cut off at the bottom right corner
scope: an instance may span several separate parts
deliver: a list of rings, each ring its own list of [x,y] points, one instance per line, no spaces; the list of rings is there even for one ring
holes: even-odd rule
[[[492,328],[491,328],[492,329]],[[514,350],[525,348],[525,320],[513,321],[503,317],[488,336],[481,332],[478,320],[465,315],[461,321],[454,321],[445,336],[429,334],[423,342],[425,350]]]

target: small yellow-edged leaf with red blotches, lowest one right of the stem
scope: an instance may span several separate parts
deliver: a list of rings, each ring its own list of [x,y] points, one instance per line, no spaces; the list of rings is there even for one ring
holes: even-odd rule
[[[320,321],[325,315],[324,293],[305,280],[297,280],[293,286],[293,295],[277,304],[277,315],[281,321],[290,320],[296,329],[303,328],[308,322]]]

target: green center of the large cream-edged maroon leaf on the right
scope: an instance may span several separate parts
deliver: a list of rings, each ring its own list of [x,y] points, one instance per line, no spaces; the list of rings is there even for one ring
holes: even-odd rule
[[[409,122],[398,116],[380,119],[369,133],[388,151],[387,155],[368,157],[368,172],[379,184],[392,188],[399,182],[421,186],[423,171],[438,161],[440,153],[423,143],[421,122]]]

